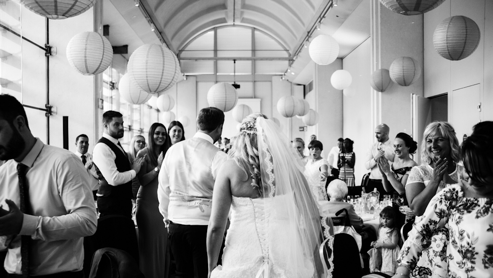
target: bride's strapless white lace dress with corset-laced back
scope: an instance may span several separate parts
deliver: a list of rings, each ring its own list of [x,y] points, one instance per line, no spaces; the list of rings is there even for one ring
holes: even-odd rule
[[[302,269],[293,269],[285,263],[291,255],[286,252],[289,250],[287,246],[300,243],[286,238],[283,233],[285,229],[295,227],[289,227],[279,215],[265,213],[265,203],[279,198],[283,196],[266,199],[233,196],[231,225],[226,236],[222,266],[212,271],[211,278],[254,278],[259,270],[266,268],[266,262],[269,262],[271,278],[313,277],[314,267],[308,260],[305,259]],[[274,225],[269,230],[276,231],[275,235],[267,235],[267,225]]]

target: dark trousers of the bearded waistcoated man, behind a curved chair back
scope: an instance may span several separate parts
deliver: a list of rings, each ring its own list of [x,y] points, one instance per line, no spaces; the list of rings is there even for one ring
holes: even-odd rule
[[[89,276],[91,261],[96,250],[111,247],[130,254],[139,265],[139,245],[134,221],[122,215],[106,215],[98,219],[98,229],[84,238],[84,274]]]

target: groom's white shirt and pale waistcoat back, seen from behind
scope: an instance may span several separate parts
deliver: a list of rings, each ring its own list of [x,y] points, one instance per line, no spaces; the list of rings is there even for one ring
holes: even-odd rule
[[[208,225],[217,171],[228,156],[211,136],[197,132],[173,145],[159,172],[157,196],[164,221],[182,225]]]

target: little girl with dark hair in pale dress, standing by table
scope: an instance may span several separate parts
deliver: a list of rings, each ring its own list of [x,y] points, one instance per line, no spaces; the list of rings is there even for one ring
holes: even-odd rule
[[[400,248],[397,245],[399,241],[399,231],[395,212],[392,207],[387,206],[380,212],[380,227],[378,228],[378,239],[373,241],[373,248],[380,248],[382,252],[382,267],[380,272],[387,275],[394,275],[397,264],[395,260],[399,256]]]

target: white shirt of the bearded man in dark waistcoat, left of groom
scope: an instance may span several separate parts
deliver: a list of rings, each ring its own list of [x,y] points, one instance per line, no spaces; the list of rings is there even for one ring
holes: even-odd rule
[[[103,137],[115,144],[116,147],[125,154],[125,151],[118,146],[118,139],[115,139],[106,133],[103,133]],[[94,146],[93,161],[98,166],[98,169],[101,171],[109,185],[117,186],[125,184],[135,178],[137,174],[135,170],[119,172],[116,168],[115,159],[115,153],[113,153],[105,143],[98,143]]]

